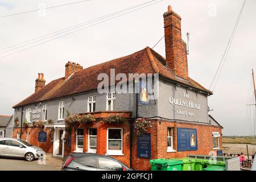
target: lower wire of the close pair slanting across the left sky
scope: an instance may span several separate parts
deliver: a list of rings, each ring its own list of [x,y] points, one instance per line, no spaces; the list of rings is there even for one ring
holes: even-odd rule
[[[35,46],[39,46],[40,44],[44,44],[44,43],[50,42],[50,41],[52,41],[52,40],[55,40],[55,39],[61,38],[61,37],[63,37],[63,36],[66,36],[66,35],[69,35],[69,34],[73,34],[73,33],[77,32],[77,31],[84,30],[85,28],[89,28],[89,27],[92,27],[92,26],[96,26],[97,24],[100,24],[100,23],[106,22],[106,21],[111,20],[111,19],[114,19],[114,18],[118,18],[119,16],[123,16],[123,15],[129,14],[129,13],[131,13],[131,12],[134,12],[134,11],[140,10],[140,9],[143,9],[144,7],[148,7],[148,6],[151,6],[151,5],[155,5],[156,3],[159,3],[159,2],[162,2],[162,1],[164,1],[164,0],[157,1],[157,2],[155,2],[155,3],[151,3],[150,5],[146,5],[146,6],[140,7],[140,8],[138,8],[138,9],[135,9],[135,10],[129,11],[129,12],[127,12],[127,13],[123,13],[123,14],[118,15],[118,16],[114,16],[113,18],[109,18],[109,19],[103,20],[103,21],[98,22],[98,23],[94,23],[94,24],[92,24],[92,25],[90,25],[90,26],[87,26],[87,27],[84,27],[84,28],[80,28],[79,30],[72,31],[72,32],[68,32],[67,34],[64,34],[64,35],[58,36],[57,38],[53,38],[53,39],[47,40],[47,41],[45,41],[45,42],[42,42],[42,43],[39,43],[39,44],[35,44],[34,46],[30,46],[30,47],[27,47],[27,48],[21,49],[21,50],[16,51],[16,52],[12,52],[12,53],[7,54],[7,55],[5,55],[5,56],[1,56],[0,58],[6,57],[6,56],[10,56],[10,55],[13,55],[13,54],[15,54],[15,53],[18,53],[18,52],[20,52],[20,51],[24,51],[24,50],[26,50],[26,49],[30,49],[30,48],[35,47]]]

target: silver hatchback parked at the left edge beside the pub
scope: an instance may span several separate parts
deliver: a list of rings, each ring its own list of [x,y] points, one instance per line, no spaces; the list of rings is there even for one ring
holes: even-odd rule
[[[0,138],[0,156],[20,157],[27,161],[43,158],[46,153],[42,148],[32,146],[18,138]]]

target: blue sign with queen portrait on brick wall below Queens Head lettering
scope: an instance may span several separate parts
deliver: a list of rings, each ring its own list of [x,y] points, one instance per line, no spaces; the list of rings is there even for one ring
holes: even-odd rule
[[[197,150],[196,129],[177,128],[177,151]]]

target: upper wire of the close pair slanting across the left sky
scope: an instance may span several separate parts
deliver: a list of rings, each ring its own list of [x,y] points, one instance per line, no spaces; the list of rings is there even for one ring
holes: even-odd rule
[[[41,41],[41,40],[51,38],[52,36],[56,36],[56,35],[59,35],[59,34],[63,34],[64,32],[68,32],[68,31],[74,30],[74,29],[76,29],[76,28],[85,26],[85,25],[87,25],[87,24],[97,22],[98,20],[105,19],[105,18],[108,18],[108,17],[110,17],[110,16],[123,13],[123,12],[125,12],[125,11],[134,9],[134,8],[136,8],[136,7],[139,7],[139,6],[146,5],[146,4],[151,3],[151,2],[154,2],[154,1],[156,1],[156,0],[148,1],[148,2],[145,2],[145,3],[139,4],[139,5],[136,5],[136,6],[132,6],[132,7],[123,9],[123,10],[115,11],[114,13],[111,13],[111,14],[108,14],[108,15],[104,15],[104,16],[100,16],[100,17],[98,17],[98,18],[94,18],[94,19],[92,19],[92,20],[88,20],[88,21],[86,21],[86,22],[82,22],[82,23],[79,23],[79,24],[75,24],[75,25],[73,25],[73,26],[71,26],[71,27],[63,28],[63,29],[61,29],[61,30],[59,30],[59,31],[55,31],[55,32],[52,32],[52,33],[50,33],[50,34],[46,34],[46,35],[39,36],[38,38],[33,38],[33,39],[27,40],[27,41],[25,41],[25,42],[21,42],[21,43],[15,44],[15,45],[13,45],[13,46],[9,46],[9,47],[6,47],[6,48],[2,48],[2,49],[0,49],[0,54],[13,51],[13,50],[18,49],[18,48],[21,48],[21,47],[23,47],[23,46],[28,46],[28,45],[30,45],[30,44],[32,44],[32,43],[36,43],[36,42],[39,42],[39,41]],[[67,31],[65,31],[65,30],[67,30]],[[49,35],[52,35],[52,36],[49,36]],[[43,38],[43,39],[40,39],[40,38]],[[32,40],[36,40],[36,39],[40,39],[40,40],[31,42]],[[28,43],[28,42],[31,42],[31,43]],[[25,43],[28,43],[28,44],[25,44]],[[24,44],[24,45],[23,45],[23,46],[20,46],[20,45],[22,45],[22,44]],[[19,46],[19,47],[16,47],[16,46]],[[12,48],[12,47],[15,47],[15,48],[10,49],[10,48]],[[9,49],[9,50],[3,51],[3,50],[5,50],[5,49]],[[1,52],[1,51],[2,51],[2,52]]]

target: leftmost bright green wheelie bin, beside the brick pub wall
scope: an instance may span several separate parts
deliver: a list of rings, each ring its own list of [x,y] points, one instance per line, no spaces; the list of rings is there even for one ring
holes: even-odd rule
[[[154,159],[150,164],[151,171],[181,171],[182,160]]]

